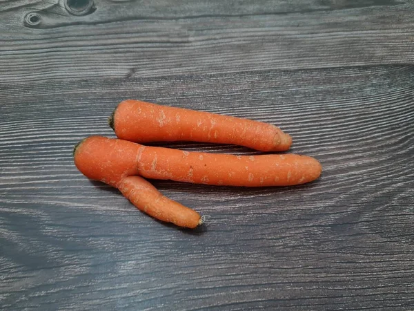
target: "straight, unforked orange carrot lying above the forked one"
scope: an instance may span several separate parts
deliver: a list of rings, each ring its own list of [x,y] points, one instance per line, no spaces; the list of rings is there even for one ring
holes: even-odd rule
[[[286,151],[290,135],[277,126],[228,115],[126,100],[109,117],[118,138],[131,142],[188,140]]]

